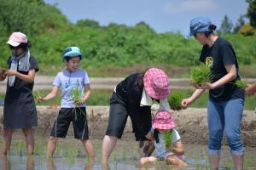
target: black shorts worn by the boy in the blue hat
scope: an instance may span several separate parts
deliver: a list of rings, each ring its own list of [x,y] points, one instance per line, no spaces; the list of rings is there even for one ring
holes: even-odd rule
[[[51,129],[50,136],[66,138],[70,122],[73,122],[75,139],[89,139],[85,107],[61,108]]]

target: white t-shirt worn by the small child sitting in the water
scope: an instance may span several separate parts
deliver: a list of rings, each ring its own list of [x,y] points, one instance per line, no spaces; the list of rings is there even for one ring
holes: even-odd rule
[[[166,149],[165,137],[163,134],[159,133],[159,143],[156,143],[154,140],[155,153],[157,157],[165,158],[167,154],[170,154],[170,151]],[[181,139],[177,130],[175,128],[172,129],[172,144],[177,142],[177,140]]]

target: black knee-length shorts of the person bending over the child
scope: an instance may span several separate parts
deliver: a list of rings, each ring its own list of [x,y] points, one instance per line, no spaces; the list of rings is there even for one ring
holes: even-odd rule
[[[152,116],[149,106],[126,105],[113,93],[110,99],[108,129],[106,135],[121,138],[124,133],[127,117],[130,116],[133,133],[137,141],[147,140],[145,135],[152,127]]]

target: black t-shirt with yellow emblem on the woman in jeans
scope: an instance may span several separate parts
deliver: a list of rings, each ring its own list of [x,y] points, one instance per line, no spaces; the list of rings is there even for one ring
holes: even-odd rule
[[[234,82],[240,79],[236,53],[230,42],[221,37],[214,42],[212,47],[205,45],[201,50],[200,61],[211,65],[212,82],[217,82],[227,74],[224,65],[236,65],[236,79],[223,86],[210,90],[210,99],[214,101],[227,101],[244,96],[244,90],[238,88]]]

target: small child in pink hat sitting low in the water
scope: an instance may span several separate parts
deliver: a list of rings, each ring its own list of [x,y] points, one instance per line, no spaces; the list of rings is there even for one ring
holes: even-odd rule
[[[157,160],[165,160],[167,164],[175,166],[187,166],[184,160],[184,150],[181,138],[175,129],[176,124],[173,121],[172,114],[168,111],[158,111],[153,120],[151,130],[152,139],[154,139],[156,157],[143,157],[141,164]],[[168,135],[169,133],[169,135]],[[167,144],[169,141],[171,144]]]

